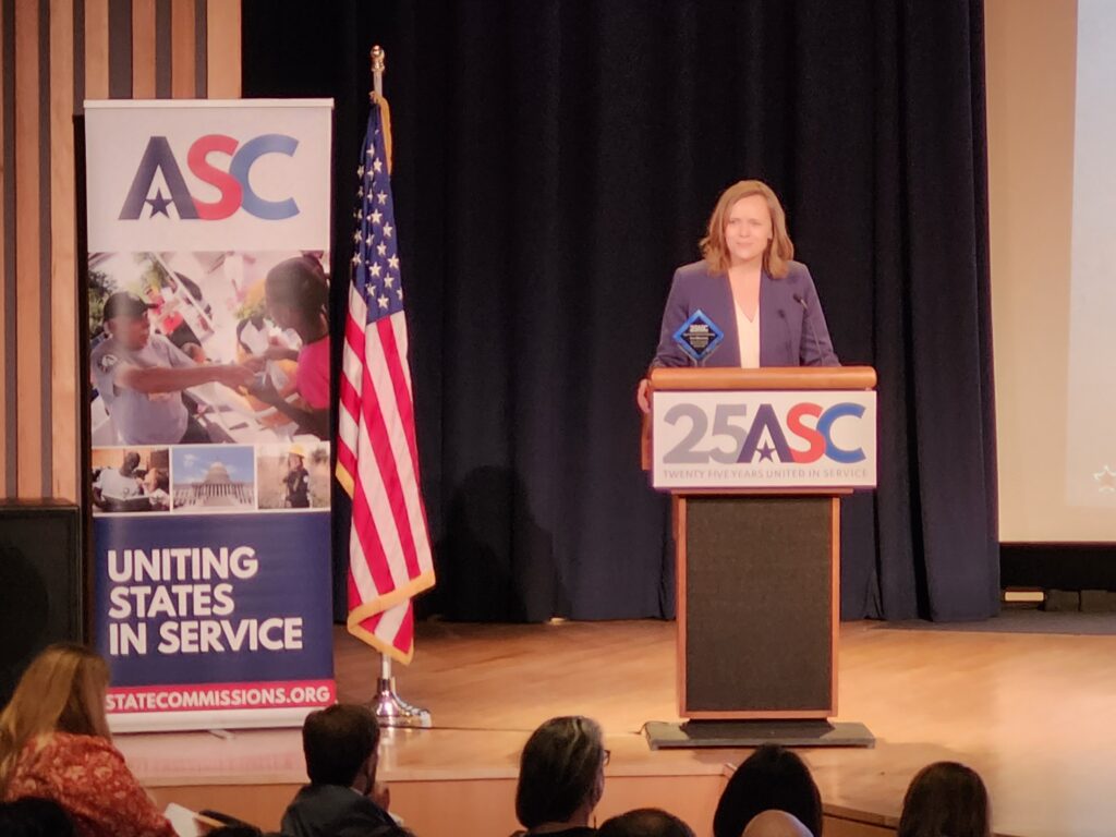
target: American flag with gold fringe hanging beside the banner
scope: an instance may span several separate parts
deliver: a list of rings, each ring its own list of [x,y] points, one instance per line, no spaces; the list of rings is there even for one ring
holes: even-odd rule
[[[353,498],[348,631],[408,663],[414,653],[411,598],[434,585],[434,565],[419,491],[388,133],[387,103],[378,98],[357,167],[337,479]]]

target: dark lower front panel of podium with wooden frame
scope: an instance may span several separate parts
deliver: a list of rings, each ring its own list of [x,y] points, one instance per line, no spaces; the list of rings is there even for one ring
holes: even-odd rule
[[[679,502],[681,714],[836,714],[839,501],[686,496]]]

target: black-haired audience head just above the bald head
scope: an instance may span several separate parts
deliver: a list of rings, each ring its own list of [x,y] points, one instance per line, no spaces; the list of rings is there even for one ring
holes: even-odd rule
[[[821,835],[821,795],[797,753],[764,744],[737,768],[713,816],[714,837],[740,837],[760,811],[787,811]]]

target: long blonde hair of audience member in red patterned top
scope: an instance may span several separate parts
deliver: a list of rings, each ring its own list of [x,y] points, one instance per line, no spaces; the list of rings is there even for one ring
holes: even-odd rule
[[[0,797],[28,741],[51,732],[110,739],[105,718],[108,663],[83,645],[44,650],[0,712]]]

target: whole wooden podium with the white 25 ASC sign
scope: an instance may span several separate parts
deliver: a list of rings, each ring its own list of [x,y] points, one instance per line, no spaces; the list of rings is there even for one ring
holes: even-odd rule
[[[644,464],[673,498],[679,714],[722,722],[683,724],[687,742],[674,745],[700,745],[696,731],[741,743],[741,730],[870,743],[860,724],[849,739],[826,719],[837,714],[840,497],[875,485],[875,384],[870,367],[652,372]],[[779,723],[723,723],[740,721]],[[789,735],[772,739],[780,729]]]

